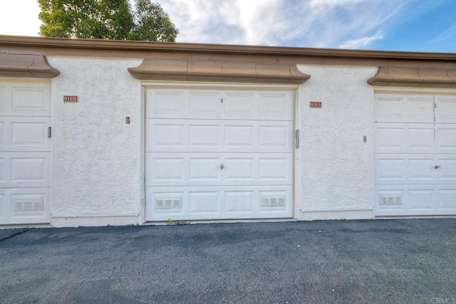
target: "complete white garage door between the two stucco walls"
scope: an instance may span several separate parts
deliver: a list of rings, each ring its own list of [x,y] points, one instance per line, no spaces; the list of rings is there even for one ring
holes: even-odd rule
[[[146,95],[147,221],[293,216],[293,90]]]

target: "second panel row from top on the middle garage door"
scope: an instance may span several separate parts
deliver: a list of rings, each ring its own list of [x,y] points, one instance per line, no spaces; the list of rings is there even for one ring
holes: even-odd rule
[[[293,122],[147,119],[147,152],[289,152]]]

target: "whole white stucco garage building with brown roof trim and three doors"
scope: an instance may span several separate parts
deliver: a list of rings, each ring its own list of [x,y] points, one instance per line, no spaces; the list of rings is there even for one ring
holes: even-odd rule
[[[0,225],[456,216],[456,54],[0,36]]]

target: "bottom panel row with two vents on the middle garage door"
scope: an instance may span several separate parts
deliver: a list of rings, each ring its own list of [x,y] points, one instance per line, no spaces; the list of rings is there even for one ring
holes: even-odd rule
[[[148,221],[275,219],[293,216],[293,186],[147,187]],[[172,207],[172,200],[182,204]],[[163,201],[169,208],[160,208]],[[190,202],[191,201],[191,202]]]

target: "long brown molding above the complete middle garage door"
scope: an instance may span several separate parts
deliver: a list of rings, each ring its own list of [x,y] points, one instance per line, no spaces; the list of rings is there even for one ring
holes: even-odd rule
[[[216,81],[236,83],[305,83],[311,76],[295,64],[147,58],[128,68],[140,80]]]

